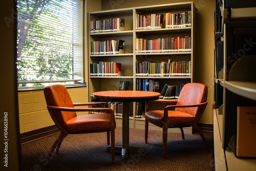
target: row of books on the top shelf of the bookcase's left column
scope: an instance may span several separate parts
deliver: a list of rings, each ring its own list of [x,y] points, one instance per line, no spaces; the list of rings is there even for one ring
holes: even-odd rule
[[[90,33],[115,32],[125,27],[123,18],[108,18],[90,21]]]

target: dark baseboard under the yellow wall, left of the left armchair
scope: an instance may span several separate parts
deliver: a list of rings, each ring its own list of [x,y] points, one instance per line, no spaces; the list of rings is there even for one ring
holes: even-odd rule
[[[36,139],[40,139],[43,137],[47,137],[52,134],[56,134],[59,132],[59,129],[56,125],[47,126],[38,130],[30,131],[27,133],[20,134],[20,143],[24,144],[30,141],[34,141]]]

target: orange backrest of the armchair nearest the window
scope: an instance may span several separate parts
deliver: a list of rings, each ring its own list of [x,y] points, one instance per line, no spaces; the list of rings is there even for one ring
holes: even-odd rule
[[[44,94],[46,98],[47,105],[58,106],[58,107],[68,107],[74,108],[72,99],[68,90],[59,84],[47,86],[44,88]],[[54,121],[58,126],[66,128],[66,123],[68,120],[76,117],[76,112],[69,111],[59,111],[48,108],[48,111]]]

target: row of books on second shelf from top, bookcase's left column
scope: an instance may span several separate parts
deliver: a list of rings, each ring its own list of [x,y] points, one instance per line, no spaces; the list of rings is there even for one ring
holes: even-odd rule
[[[124,40],[91,41],[91,55],[118,54]]]

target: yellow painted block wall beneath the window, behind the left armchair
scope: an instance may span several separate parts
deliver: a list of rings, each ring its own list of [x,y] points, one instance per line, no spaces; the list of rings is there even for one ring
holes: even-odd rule
[[[73,102],[88,101],[87,88],[69,88],[68,91]],[[19,92],[18,107],[20,133],[54,125],[46,108],[45,96],[42,90]]]

